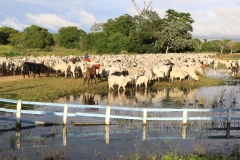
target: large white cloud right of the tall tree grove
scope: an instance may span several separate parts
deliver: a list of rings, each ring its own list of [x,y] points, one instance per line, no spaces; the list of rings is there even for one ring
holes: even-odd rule
[[[193,14],[193,36],[211,39],[240,39],[240,7],[215,8]]]

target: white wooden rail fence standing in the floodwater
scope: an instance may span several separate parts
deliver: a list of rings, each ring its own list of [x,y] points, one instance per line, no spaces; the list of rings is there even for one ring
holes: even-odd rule
[[[1,102],[5,103],[14,103],[17,105],[17,109],[6,109],[0,108],[1,112],[16,113],[16,123],[21,125],[21,114],[33,114],[33,115],[53,115],[53,116],[62,116],[62,124],[67,123],[67,117],[76,117],[76,116],[87,116],[87,117],[102,117],[105,118],[105,125],[110,124],[110,119],[129,119],[129,120],[140,120],[143,124],[147,124],[147,121],[168,121],[176,120],[182,121],[182,124],[187,124],[188,120],[226,120],[227,123],[231,123],[232,120],[240,120],[240,116],[232,116],[233,112],[239,112],[240,109],[172,109],[172,108],[130,108],[130,107],[116,107],[116,106],[101,106],[101,105],[78,105],[78,104],[62,104],[62,103],[45,103],[45,102],[31,102],[31,101],[22,101],[22,100],[10,100],[0,98]],[[22,104],[27,105],[38,105],[38,106],[56,106],[63,107],[63,112],[51,112],[51,111],[33,111],[33,110],[22,110]],[[106,114],[96,114],[96,113],[68,113],[68,108],[97,108],[105,109]],[[131,111],[131,112],[142,112],[142,116],[126,116],[126,115],[111,115],[112,110],[122,110],[122,111]],[[148,117],[148,113],[156,112],[182,112],[181,117]],[[221,112],[226,113],[220,117],[189,117],[189,112]],[[7,118],[0,118],[0,120],[7,120]],[[27,120],[25,120],[26,122]],[[22,121],[23,122],[23,121]],[[40,123],[40,122],[38,122]]]

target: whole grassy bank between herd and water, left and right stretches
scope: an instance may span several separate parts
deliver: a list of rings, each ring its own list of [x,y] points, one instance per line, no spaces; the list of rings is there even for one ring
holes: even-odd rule
[[[221,85],[224,81],[217,79],[209,79],[204,76],[200,77],[200,81],[179,80],[168,82],[153,82],[150,84],[150,89],[161,89],[165,87],[182,87],[182,88],[197,88],[201,86]],[[7,99],[21,99],[25,101],[38,102],[53,102],[63,96],[80,95],[82,93],[108,93],[107,81],[97,80],[88,85],[83,84],[83,79],[64,78],[64,77],[42,77],[42,78],[22,78],[17,81],[0,82],[0,97]],[[127,88],[135,89],[135,88]],[[141,88],[144,89],[144,88]],[[115,86],[117,90],[117,86]],[[122,89],[121,89],[122,90]]]

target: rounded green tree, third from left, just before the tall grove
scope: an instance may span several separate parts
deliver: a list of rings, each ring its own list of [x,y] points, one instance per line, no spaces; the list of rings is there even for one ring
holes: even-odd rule
[[[62,27],[58,30],[59,45],[64,48],[77,48],[85,34],[82,29],[77,29],[77,27]]]

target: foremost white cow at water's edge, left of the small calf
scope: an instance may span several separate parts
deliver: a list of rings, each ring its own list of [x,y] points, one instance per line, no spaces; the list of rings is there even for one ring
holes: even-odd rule
[[[123,90],[125,91],[125,86],[127,85],[128,82],[130,82],[132,79],[129,76],[114,76],[114,75],[109,75],[108,77],[108,87],[109,90],[114,89],[114,85],[118,85],[118,91],[120,87],[123,87]]]

